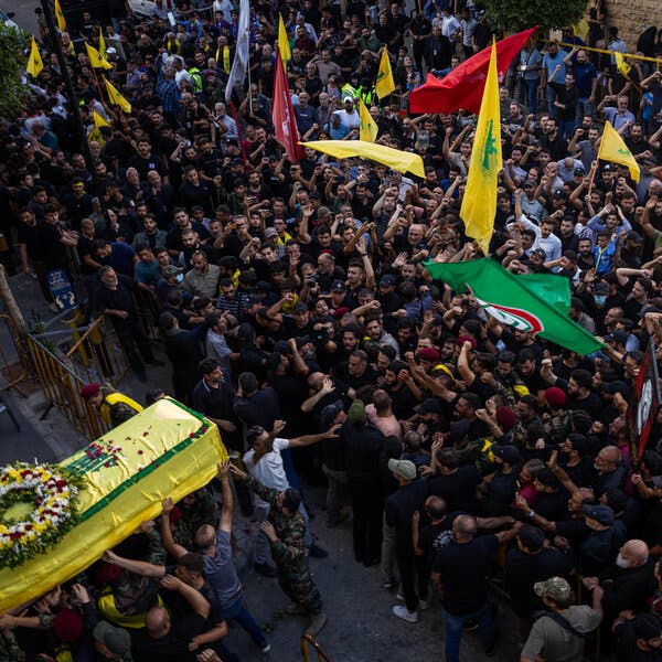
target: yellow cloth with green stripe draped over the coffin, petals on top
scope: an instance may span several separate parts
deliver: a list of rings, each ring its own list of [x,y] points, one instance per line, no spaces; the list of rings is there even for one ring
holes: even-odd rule
[[[106,549],[216,474],[227,459],[218,428],[169,398],[134,416],[62,462],[83,473],[78,524],[47,554],[0,570],[0,612],[75,577]]]

